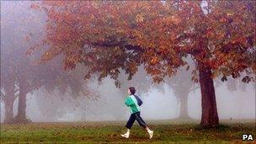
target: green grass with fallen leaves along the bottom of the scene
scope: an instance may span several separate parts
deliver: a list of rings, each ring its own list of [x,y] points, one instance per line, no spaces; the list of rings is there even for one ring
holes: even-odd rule
[[[31,123],[27,125],[1,125],[1,143],[253,143],[242,141],[244,134],[256,139],[253,120],[222,120],[216,129],[202,129],[198,121],[148,121],[154,131],[152,140],[139,125],[131,129],[129,139],[120,136],[125,132],[125,121]],[[189,123],[189,124],[185,124]]]

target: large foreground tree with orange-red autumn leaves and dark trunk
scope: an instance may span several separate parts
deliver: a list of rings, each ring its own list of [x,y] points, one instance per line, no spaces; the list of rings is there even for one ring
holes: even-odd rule
[[[48,16],[43,44],[51,47],[42,61],[62,54],[65,67],[88,67],[86,78],[99,73],[117,79],[120,69],[132,76],[143,65],[160,83],[188,65],[184,58],[191,56],[202,97],[200,124],[214,127],[219,119],[213,78],[245,72],[248,83],[256,72],[256,6],[253,1],[202,3],[46,1],[31,7],[45,9]]]

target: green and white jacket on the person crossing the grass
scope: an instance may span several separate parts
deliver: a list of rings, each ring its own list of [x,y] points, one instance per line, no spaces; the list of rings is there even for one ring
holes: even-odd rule
[[[131,114],[134,114],[140,111],[140,107],[134,95],[127,96],[127,98],[125,99],[125,105],[129,107]]]

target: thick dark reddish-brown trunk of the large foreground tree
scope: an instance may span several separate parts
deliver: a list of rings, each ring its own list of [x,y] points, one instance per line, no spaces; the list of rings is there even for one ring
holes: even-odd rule
[[[200,125],[205,127],[215,127],[219,124],[219,118],[216,108],[215,89],[211,78],[211,69],[204,67],[200,62],[198,64],[202,105]]]

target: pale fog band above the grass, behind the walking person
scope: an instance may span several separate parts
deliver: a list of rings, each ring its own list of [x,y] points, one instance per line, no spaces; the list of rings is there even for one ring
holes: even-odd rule
[[[179,117],[179,102],[172,89],[164,85],[164,93],[150,88],[148,93],[140,93],[143,104],[141,115],[146,120],[168,120]],[[129,110],[124,99],[127,93],[120,93],[113,80],[106,78],[101,85],[92,83],[92,88],[100,90],[97,100],[77,99],[61,100],[52,93],[51,99],[44,99],[44,92],[38,91],[27,96],[27,116],[35,122],[49,121],[100,121],[126,120]],[[139,91],[139,89],[138,89]],[[227,87],[216,88],[216,101],[220,119],[254,119],[255,87],[247,84],[246,91],[237,89],[229,92]],[[14,115],[17,114],[17,99],[14,104]],[[47,109],[47,111],[42,110]],[[200,89],[189,93],[188,112],[191,118],[200,120]],[[47,114],[48,113],[48,114]],[[4,104],[1,103],[1,121],[4,120]]]

